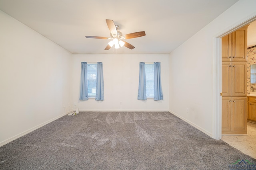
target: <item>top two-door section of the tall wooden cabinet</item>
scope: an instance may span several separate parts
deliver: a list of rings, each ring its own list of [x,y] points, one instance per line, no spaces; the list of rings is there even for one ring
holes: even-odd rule
[[[246,62],[247,26],[222,38],[222,61]]]

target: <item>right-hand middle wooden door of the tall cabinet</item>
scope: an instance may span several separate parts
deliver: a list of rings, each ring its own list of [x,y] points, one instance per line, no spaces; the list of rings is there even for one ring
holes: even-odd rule
[[[247,63],[232,62],[231,64],[231,96],[247,96]]]

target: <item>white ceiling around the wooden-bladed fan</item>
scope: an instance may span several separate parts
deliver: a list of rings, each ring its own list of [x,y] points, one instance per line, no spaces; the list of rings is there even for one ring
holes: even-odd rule
[[[145,31],[127,39],[135,49],[117,53],[168,54],[238,0],[0,0],[0,10],[54,41],[71,53],[116,53],[104,50],[109,40],[106,19],[124,34]]]

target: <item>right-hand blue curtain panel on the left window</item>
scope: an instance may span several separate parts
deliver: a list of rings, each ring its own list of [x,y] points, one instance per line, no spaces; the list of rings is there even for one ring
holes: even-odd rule
[[[104,80],[102,62],[97,63],[96,97],[95,100],[104,100]]]

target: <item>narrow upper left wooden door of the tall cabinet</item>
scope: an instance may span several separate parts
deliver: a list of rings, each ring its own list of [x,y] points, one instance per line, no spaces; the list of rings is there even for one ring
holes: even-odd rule
[[[231,61],[231,33],[222,37],[222,62]]]

